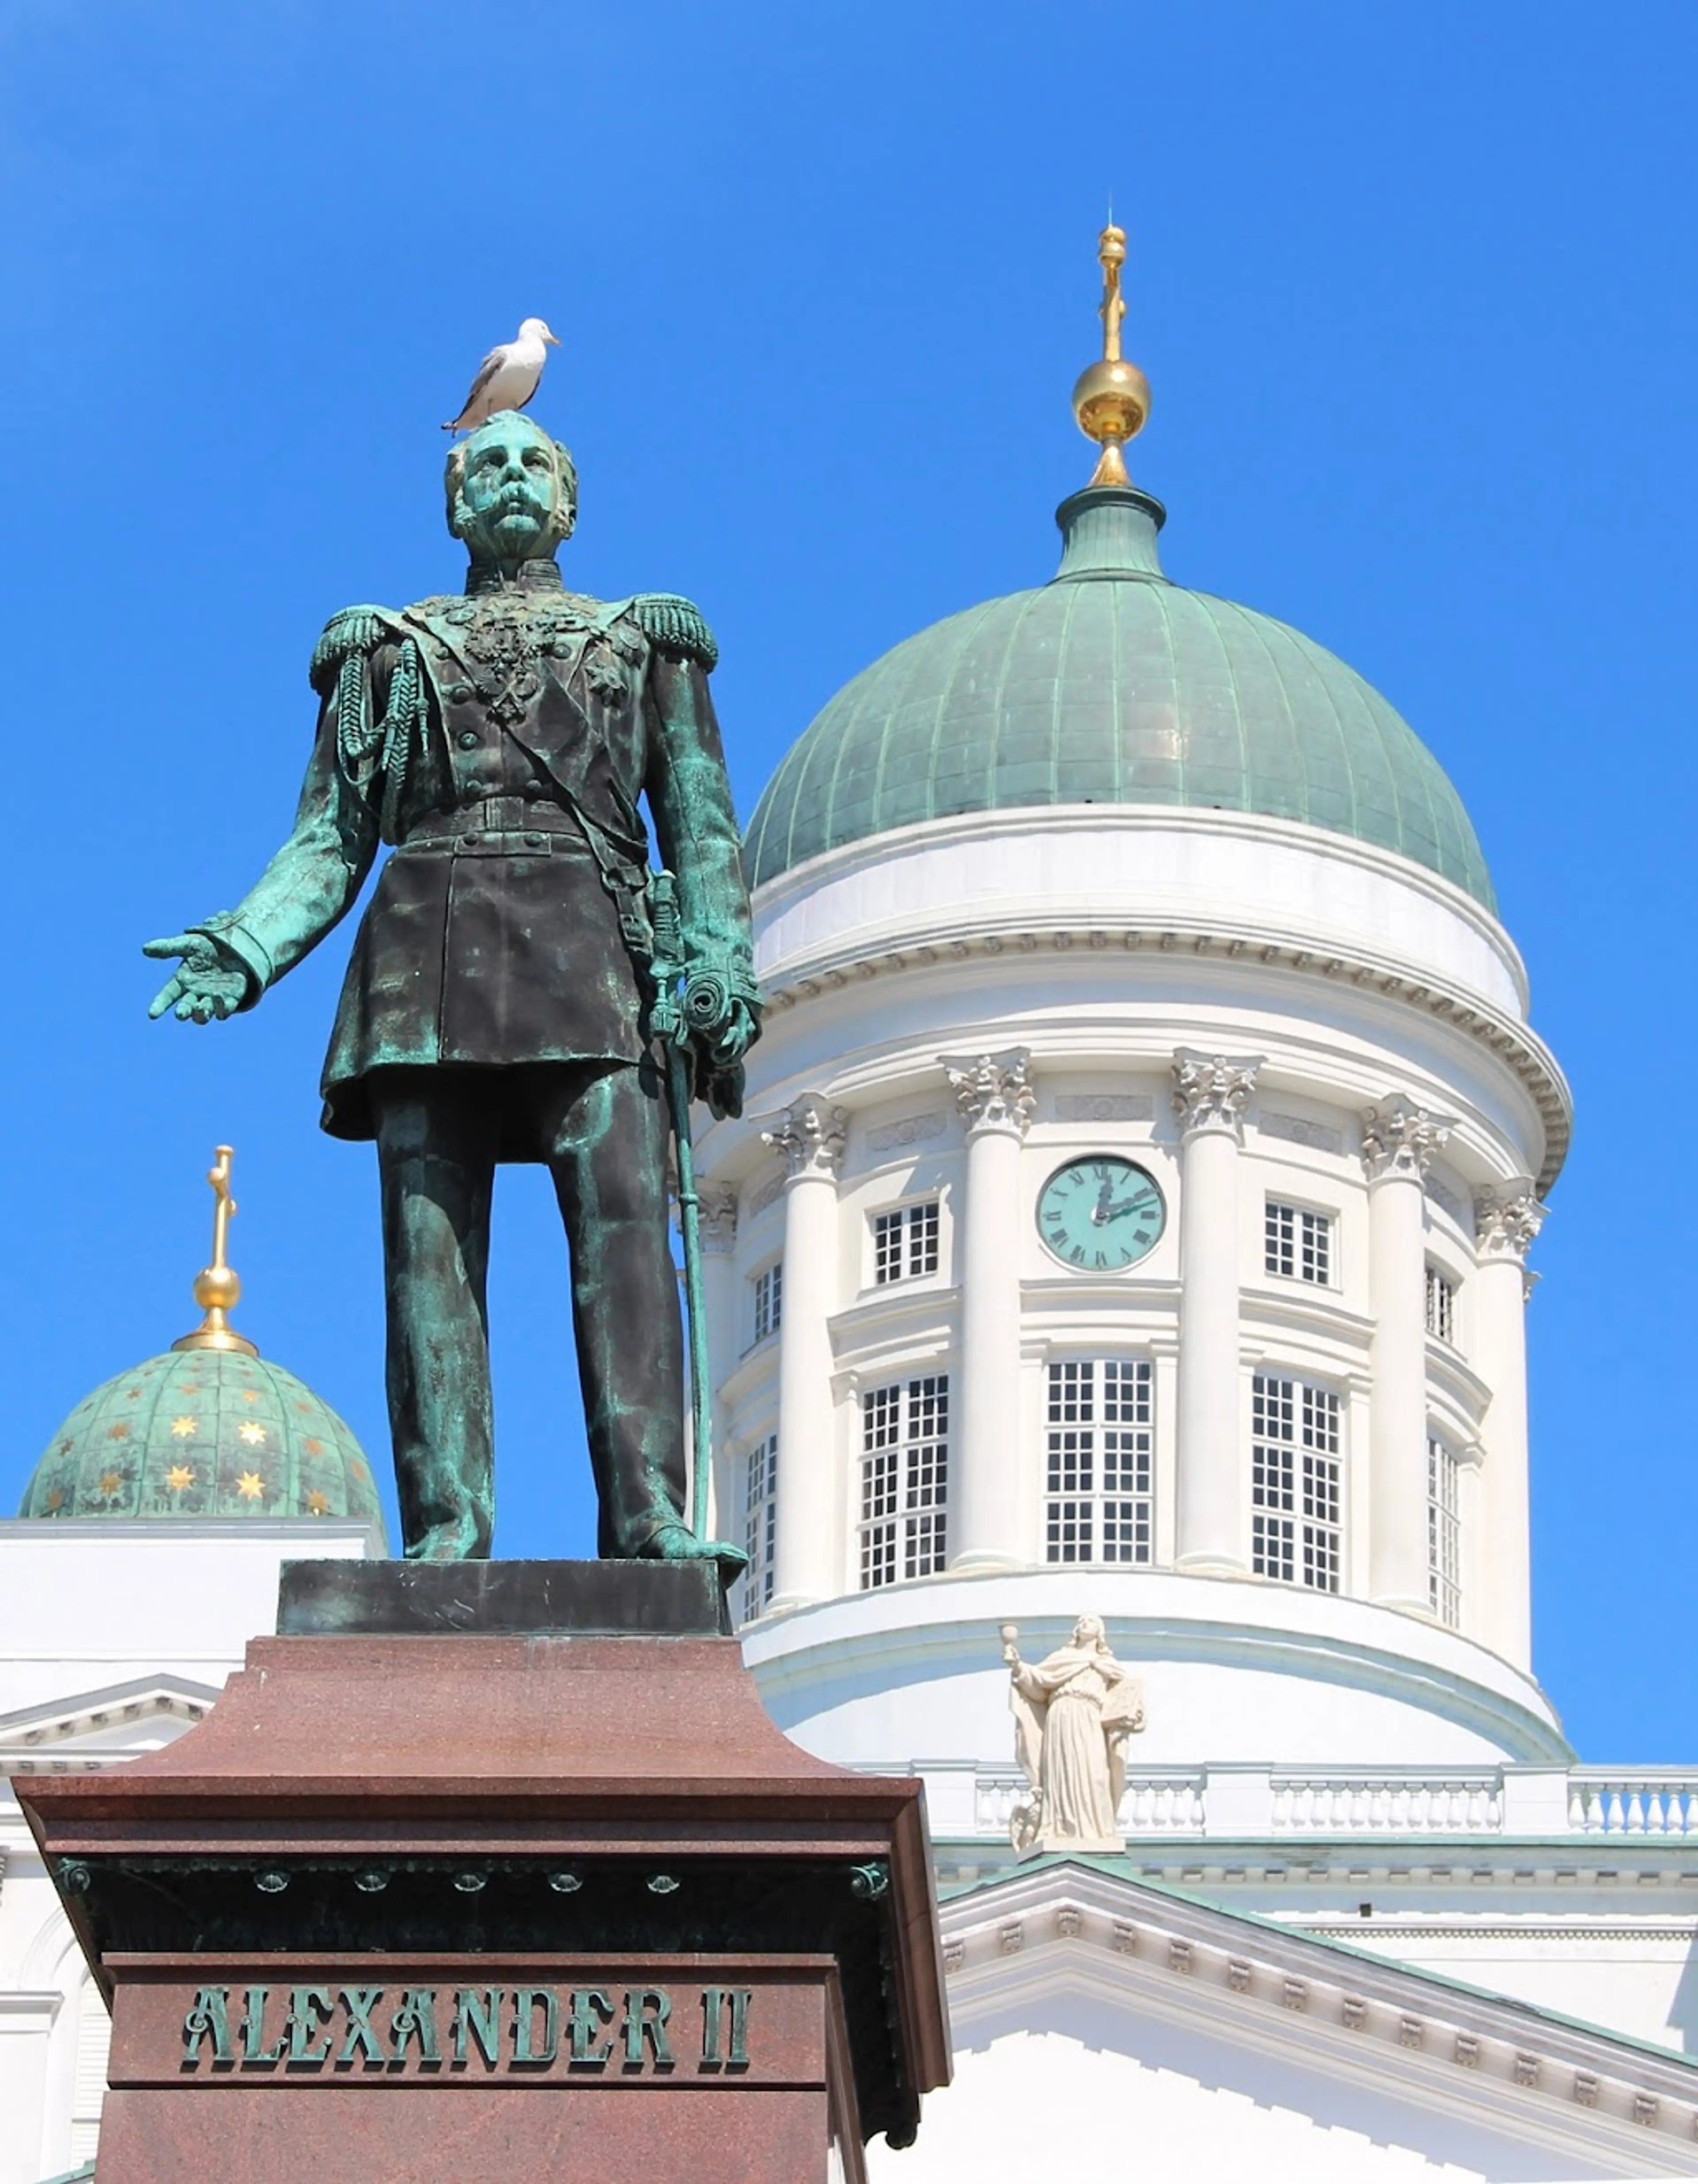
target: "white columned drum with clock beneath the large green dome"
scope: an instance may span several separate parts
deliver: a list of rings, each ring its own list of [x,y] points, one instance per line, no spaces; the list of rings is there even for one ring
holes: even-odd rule
[[[1499,1686],[1469,1749],[1543,1749],[1523,1313],[1567,1094],[1497,919],[1313,828],[1171,810],[920,826],[756,911],[776,1007],[701,1147],[745,1621],[782,1649],[861,1601],[889,1631],[942,1588],[970,1673],[970,1579],[1071,1572],[1169,1645],[1252,1594],[1309,1640],[1355,1601],[1399,1706],[1462,1640],[1445,1708]]]

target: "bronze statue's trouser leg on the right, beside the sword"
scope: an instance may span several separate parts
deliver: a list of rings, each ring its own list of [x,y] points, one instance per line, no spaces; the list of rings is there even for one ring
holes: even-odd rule
[[[667,1221],[667,1094],[616,1064],[573,1088],[549,1168],[573,1254],[573,1328],[601,1505],[597,1551],[638,1555],[684,1514],[684,1337]]]

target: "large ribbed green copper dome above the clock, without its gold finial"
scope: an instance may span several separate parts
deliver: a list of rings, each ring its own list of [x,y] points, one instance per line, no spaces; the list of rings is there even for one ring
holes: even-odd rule
[[[752,882],[920,819],[1189,804],[1355,834],[1497,909],[1445,769],[1355,668],[1169,583],[1147,494],[1075,494],[1058,522],[1051,583],[922,629],[837,692],[756,806]]]

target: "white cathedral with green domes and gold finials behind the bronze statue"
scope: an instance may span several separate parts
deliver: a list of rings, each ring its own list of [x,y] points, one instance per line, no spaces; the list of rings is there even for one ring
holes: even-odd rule
[[[955,2079],[872,2173],[1698,2175],[1698,1767],[1582,1760],[1532,1658],[1569,1090],[1410,723],[1165,574],[1119,247],[1034,585],[750,817],[765,1035],[697,1138],[745,1660],[927,1787]],[[201,1302],[0,1524],[2,1776],[179,1736],[282,1559],[387,1553]],[[0,2035],[0,2184],[90,2173],[105,2014],[9,1793]]]

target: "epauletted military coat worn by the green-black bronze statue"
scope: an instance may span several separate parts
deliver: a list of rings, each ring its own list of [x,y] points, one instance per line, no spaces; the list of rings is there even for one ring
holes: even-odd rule
[[[374,1133],[376,1070],[642,1057],[638,797],[677,876],[686,961],[754,996],[712,660],[688,601],[583,598],[553,561],[330,622],[295,830],[243,902],[194,930],[247,968],[251,1007],[393,845],[323,1066],[332,1136]]]

